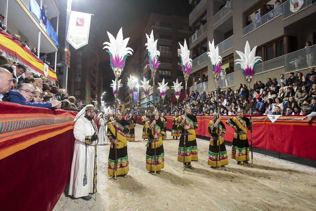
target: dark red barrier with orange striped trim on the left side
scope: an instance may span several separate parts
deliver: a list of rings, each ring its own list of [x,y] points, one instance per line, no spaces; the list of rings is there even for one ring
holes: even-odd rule
[[[69,182],[75,112],[0,102],[0,210],[47,210]]]

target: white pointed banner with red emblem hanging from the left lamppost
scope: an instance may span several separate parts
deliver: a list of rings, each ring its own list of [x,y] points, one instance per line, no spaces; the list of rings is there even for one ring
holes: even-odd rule
[[[67,41],[78,49],[88,44],[91,14],[83,12],[70,12]]]

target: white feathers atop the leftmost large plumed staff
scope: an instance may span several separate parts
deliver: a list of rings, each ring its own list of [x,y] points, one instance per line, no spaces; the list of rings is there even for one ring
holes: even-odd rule
[[[103,49],[108,49],[112,56],[118,55],[119,58],[124,58],[126,54],[133,54],[133,49],[130,47],[126,47],[128,44],[128,40],[130,38],[125,38],[123,40],[123,29],[120,28],[119,33],[116,36],[116,39],[114,36],[107,32],[107,35],[109,36],[110,42],[104,42],[103,45],[106,45],[103,47]]]

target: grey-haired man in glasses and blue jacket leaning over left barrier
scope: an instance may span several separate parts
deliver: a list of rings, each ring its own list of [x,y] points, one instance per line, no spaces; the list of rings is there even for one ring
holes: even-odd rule
[[[10,90],[10,102],[21,105],[40,107],[40,108],[57,108],[61,106],[61,102],[52,100],[50,102],[34,102],[35,88],[31,84],[19,84],[15,90]]]

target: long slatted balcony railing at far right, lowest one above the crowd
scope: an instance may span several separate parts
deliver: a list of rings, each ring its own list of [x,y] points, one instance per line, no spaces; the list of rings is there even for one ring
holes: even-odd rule
[[[316,65],[316,45],[309,48],[279,56],[275,59],[270,59],[261,62],[256,67],[256,74],[263,71],[269,71],[278,68],[285,68],[285,72],[294,72],[304,70]]]

